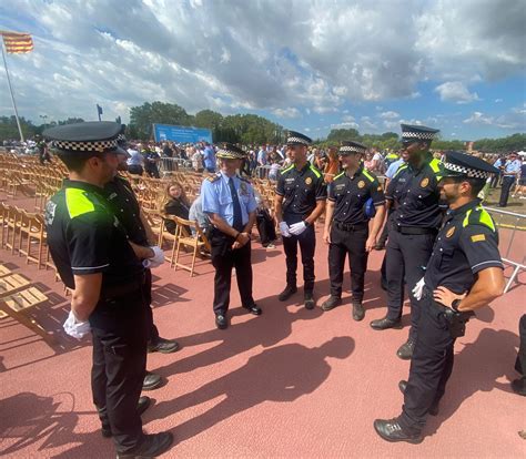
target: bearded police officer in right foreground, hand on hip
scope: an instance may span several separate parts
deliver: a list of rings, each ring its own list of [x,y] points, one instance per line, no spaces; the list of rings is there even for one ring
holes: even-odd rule
[[[415,286],[422,298],[418,336],[404,392],[402,415],[376,419],[376,432],[387,441],[422,441],[427,415],[438,402],[453,369],[454,344],[476,310],[504,290],[498,235],[477,194],[496,169],[478,157],[448,153],[441,194],[449,203],[425,277]]]

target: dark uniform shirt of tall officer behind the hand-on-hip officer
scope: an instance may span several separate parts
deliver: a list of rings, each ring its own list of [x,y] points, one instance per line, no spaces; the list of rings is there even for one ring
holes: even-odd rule
[[[385,192],[385,198],[395,202],[394,222],[398,226],[423,228],[441,227],[443,211],[438,191],[442,165],[438,160],[429,159],[416,170],[403,164],[396,171]]]

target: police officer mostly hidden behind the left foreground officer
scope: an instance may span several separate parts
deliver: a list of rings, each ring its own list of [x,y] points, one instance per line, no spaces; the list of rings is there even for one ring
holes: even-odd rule
[[[122,149],[122,153],[118,154],[119,171],[127,171],[127,159],[130,156],[127,150],[127,140],[123,134],[119,134],[118,144]],[[134,244],[143,247],[155,246],[155,235],[150,228],[149,223],[144,218],[139,201],[133,192],[130,183],[119,174],[104,185],[104,192],[112,212],[118,216],[119,222],[127,231],[128,237]],[[151,308],[152,303],[152,272],[146,268],[145,272],[144,292],[150,307],[148,312],[148,351],[170,354],[179,349],[179,343],[174,339],[165,339],[159,335],[159,329],[153,323],[153,314]],[[143,390],[151,390],[158,388],[162,384],[159,375],[146,371],[144,377]]]

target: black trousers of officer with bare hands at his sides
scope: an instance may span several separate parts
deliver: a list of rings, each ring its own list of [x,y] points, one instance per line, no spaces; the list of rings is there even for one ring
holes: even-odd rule
[[[368,258],[368,253],[365,249],[367,237],[368,225],[364,225],[363,228],[356,231],[344,231],[338,228],[336,224],[333,224],[331,228],[331,245],[328,246],[331,296],[337,296],[338,298],[342,296],[345,257],[348,254],[353,302],[362,303]]]

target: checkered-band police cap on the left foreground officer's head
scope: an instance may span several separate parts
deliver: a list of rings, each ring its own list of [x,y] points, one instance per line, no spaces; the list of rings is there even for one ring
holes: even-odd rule
[[[43,136],[52,141],[52,147],[63,153],[117,153],[121,129],[111,121],[88,121],[47,129]]]

